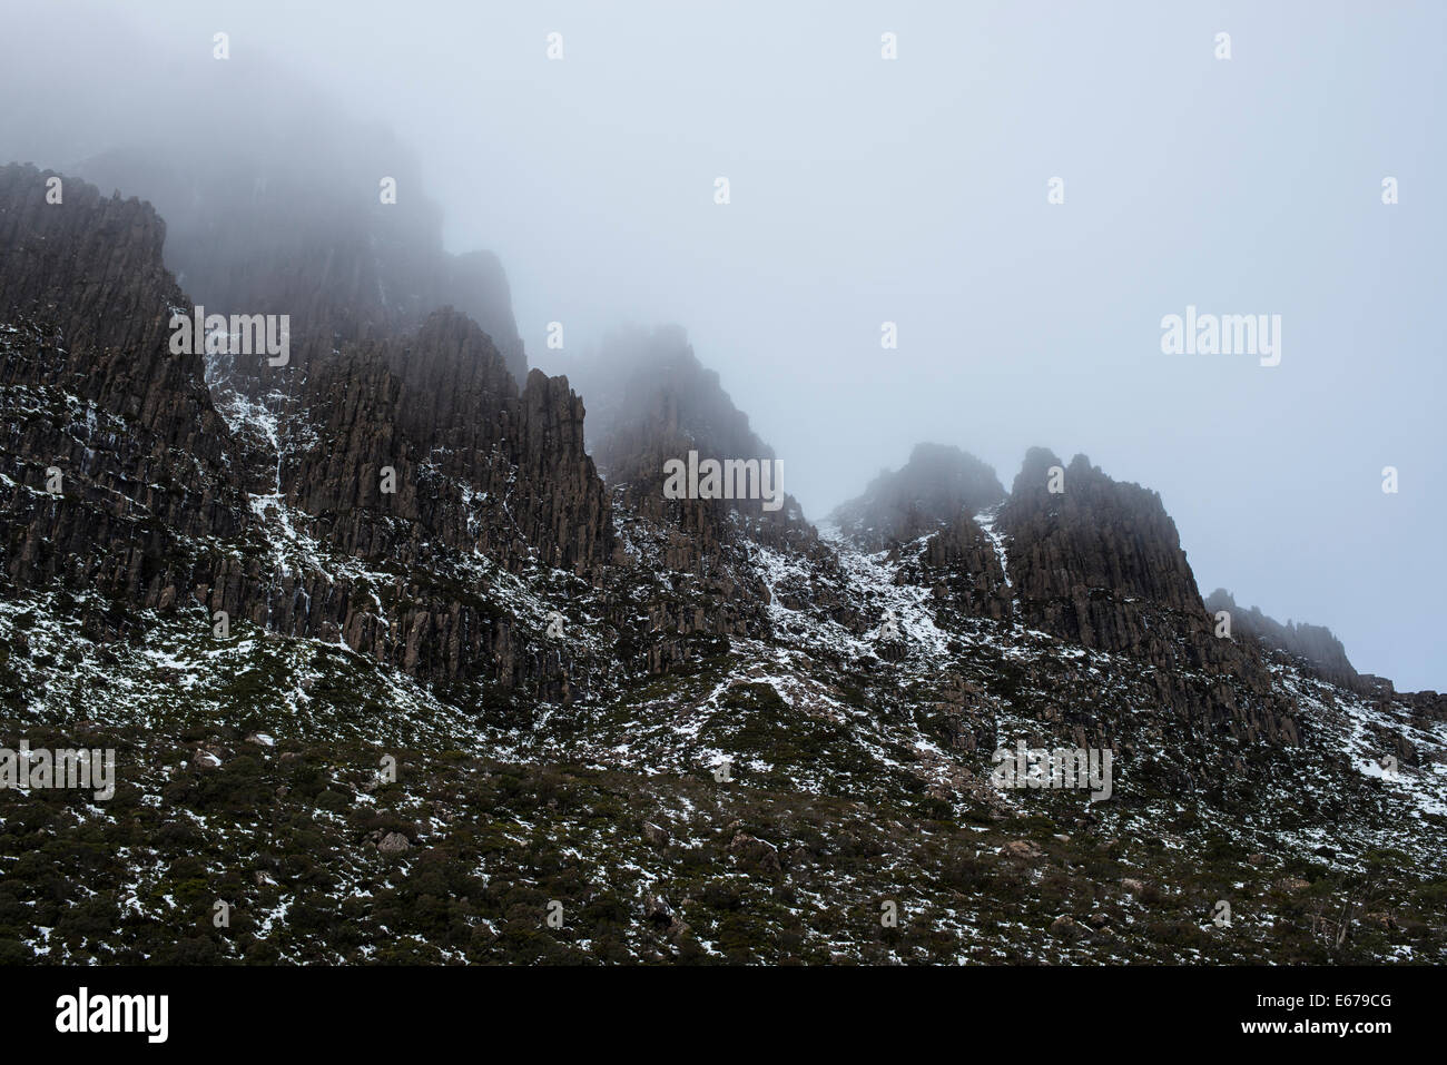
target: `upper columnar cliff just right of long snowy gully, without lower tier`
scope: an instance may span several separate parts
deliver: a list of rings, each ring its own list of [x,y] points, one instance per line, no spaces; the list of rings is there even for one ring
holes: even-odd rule
[[[582,401],[537,370],[519,395],[488,336],[456,311],[315,368],[295,417],[314,431],[285,453],[281,493],[314,515],[308,532],[350,556],[411,566],[443,544],[509,570],[540,560],[574,572],[606,557]]]

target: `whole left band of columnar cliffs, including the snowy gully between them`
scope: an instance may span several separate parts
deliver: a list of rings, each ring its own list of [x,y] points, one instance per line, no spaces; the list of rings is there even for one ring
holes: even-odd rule
[[[438,311],[268,368],[253,398],[233,386],[260,379],[232,372],[247,356],[169,352],[171,313],[191,301],[149,204],[74,179],[48,204],[48,177],[0,169],[6,574],[204,606],[205,628],[223,611],[341,640],[428,682],[567,697],[566,655],[519,645],[527,625],[493,590],[498,574],[585,576],[612,553],[567,381],[534,372],[519,392],[489,337]]]

